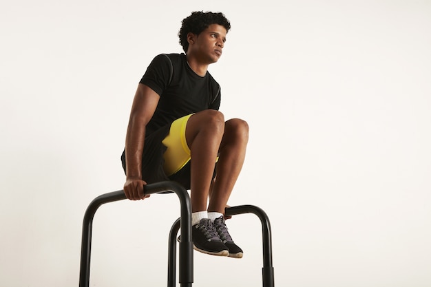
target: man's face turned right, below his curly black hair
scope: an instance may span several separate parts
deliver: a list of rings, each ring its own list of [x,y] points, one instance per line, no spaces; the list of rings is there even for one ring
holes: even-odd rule
[[[202,63],[215,63],[222,56],[227,30],[222,25],[211,24],[198,36],[193,35],[193,43],[189,44],[189,52],[196,55]]]

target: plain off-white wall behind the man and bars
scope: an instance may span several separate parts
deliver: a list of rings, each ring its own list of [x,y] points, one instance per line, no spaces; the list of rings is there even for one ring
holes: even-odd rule
[[[78,286],[137,83],[194,10],[232,23],[210,67],[251,127],[230,204],[269,215],[276,286],[431,286],[431,3],[409,0],[2,1],[0,286]],[[165,286],[178,215],[102,206],[90,286]],[[195,253],[193,286],[262,286],[259,220],[228,225],[244,258]]]

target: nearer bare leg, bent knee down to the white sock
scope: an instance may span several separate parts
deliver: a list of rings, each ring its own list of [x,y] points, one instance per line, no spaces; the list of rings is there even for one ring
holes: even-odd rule
[[[186,140],[191,151],[191,209],[206,211],[215,159],[224,134],[224,116],[205,110],[187,121]]]

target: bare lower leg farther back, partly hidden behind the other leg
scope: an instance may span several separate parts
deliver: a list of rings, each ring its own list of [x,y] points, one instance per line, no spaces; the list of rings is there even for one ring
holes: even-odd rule
[[[244,120],[234,118],[225,123],[217,162],[217,178],[211,184],[209,212],[224,214],[227,200],[244,163],[248,140],[249,126]]]

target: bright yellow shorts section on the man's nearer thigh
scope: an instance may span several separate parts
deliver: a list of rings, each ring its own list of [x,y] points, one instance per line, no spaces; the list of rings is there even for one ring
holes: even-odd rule
[[[162,140],[163,145],[167,147],[163,154],[165,159],[163,169],[167,176],[178,172],[190,160],[190,149],[186,140],[186,126],[192,115],[189,114],[174,120],[171,129],[169,129],[169,134]]]

